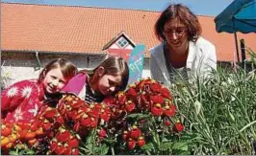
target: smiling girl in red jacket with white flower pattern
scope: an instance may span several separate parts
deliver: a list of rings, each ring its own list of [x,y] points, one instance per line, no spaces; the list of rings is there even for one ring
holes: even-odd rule
[[[59,58],[51,61],[38,79],[22,80],[2,92],[1,117],[7,122],[30,122],[44,100],[60,92],[77,73],[70,61]]]

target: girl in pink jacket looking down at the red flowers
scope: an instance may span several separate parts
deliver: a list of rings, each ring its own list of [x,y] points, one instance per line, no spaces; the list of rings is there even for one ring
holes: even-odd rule
[[[80,71],[70,79],[63,91],[73,93],[86,102],[101,102],[126,88],[129,69],[121,57],[111,56],[92,71]]]

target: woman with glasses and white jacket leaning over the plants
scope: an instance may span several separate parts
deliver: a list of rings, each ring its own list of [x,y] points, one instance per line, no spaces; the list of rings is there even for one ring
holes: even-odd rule
[[[152,78],[170,85],[177,76],[191,81],[217,68],[216,48],[200,36],[199,21],[187,7],[168,6],[155,24],[155,33],[162,43],[150,50]]]

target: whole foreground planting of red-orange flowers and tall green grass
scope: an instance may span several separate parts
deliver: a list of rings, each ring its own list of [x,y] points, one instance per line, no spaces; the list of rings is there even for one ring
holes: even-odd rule
[[[256,72],[218,68],[167,88],[145,78],[101,103],[64,95],[32,123],[1,125],[2,154],[253,155]]]

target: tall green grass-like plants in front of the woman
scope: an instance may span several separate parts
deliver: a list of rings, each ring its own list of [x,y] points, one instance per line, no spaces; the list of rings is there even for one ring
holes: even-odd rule
[[[255,154],[256,72],[218,68],[213,77],[170,87],[185,118],[191,154]]]

